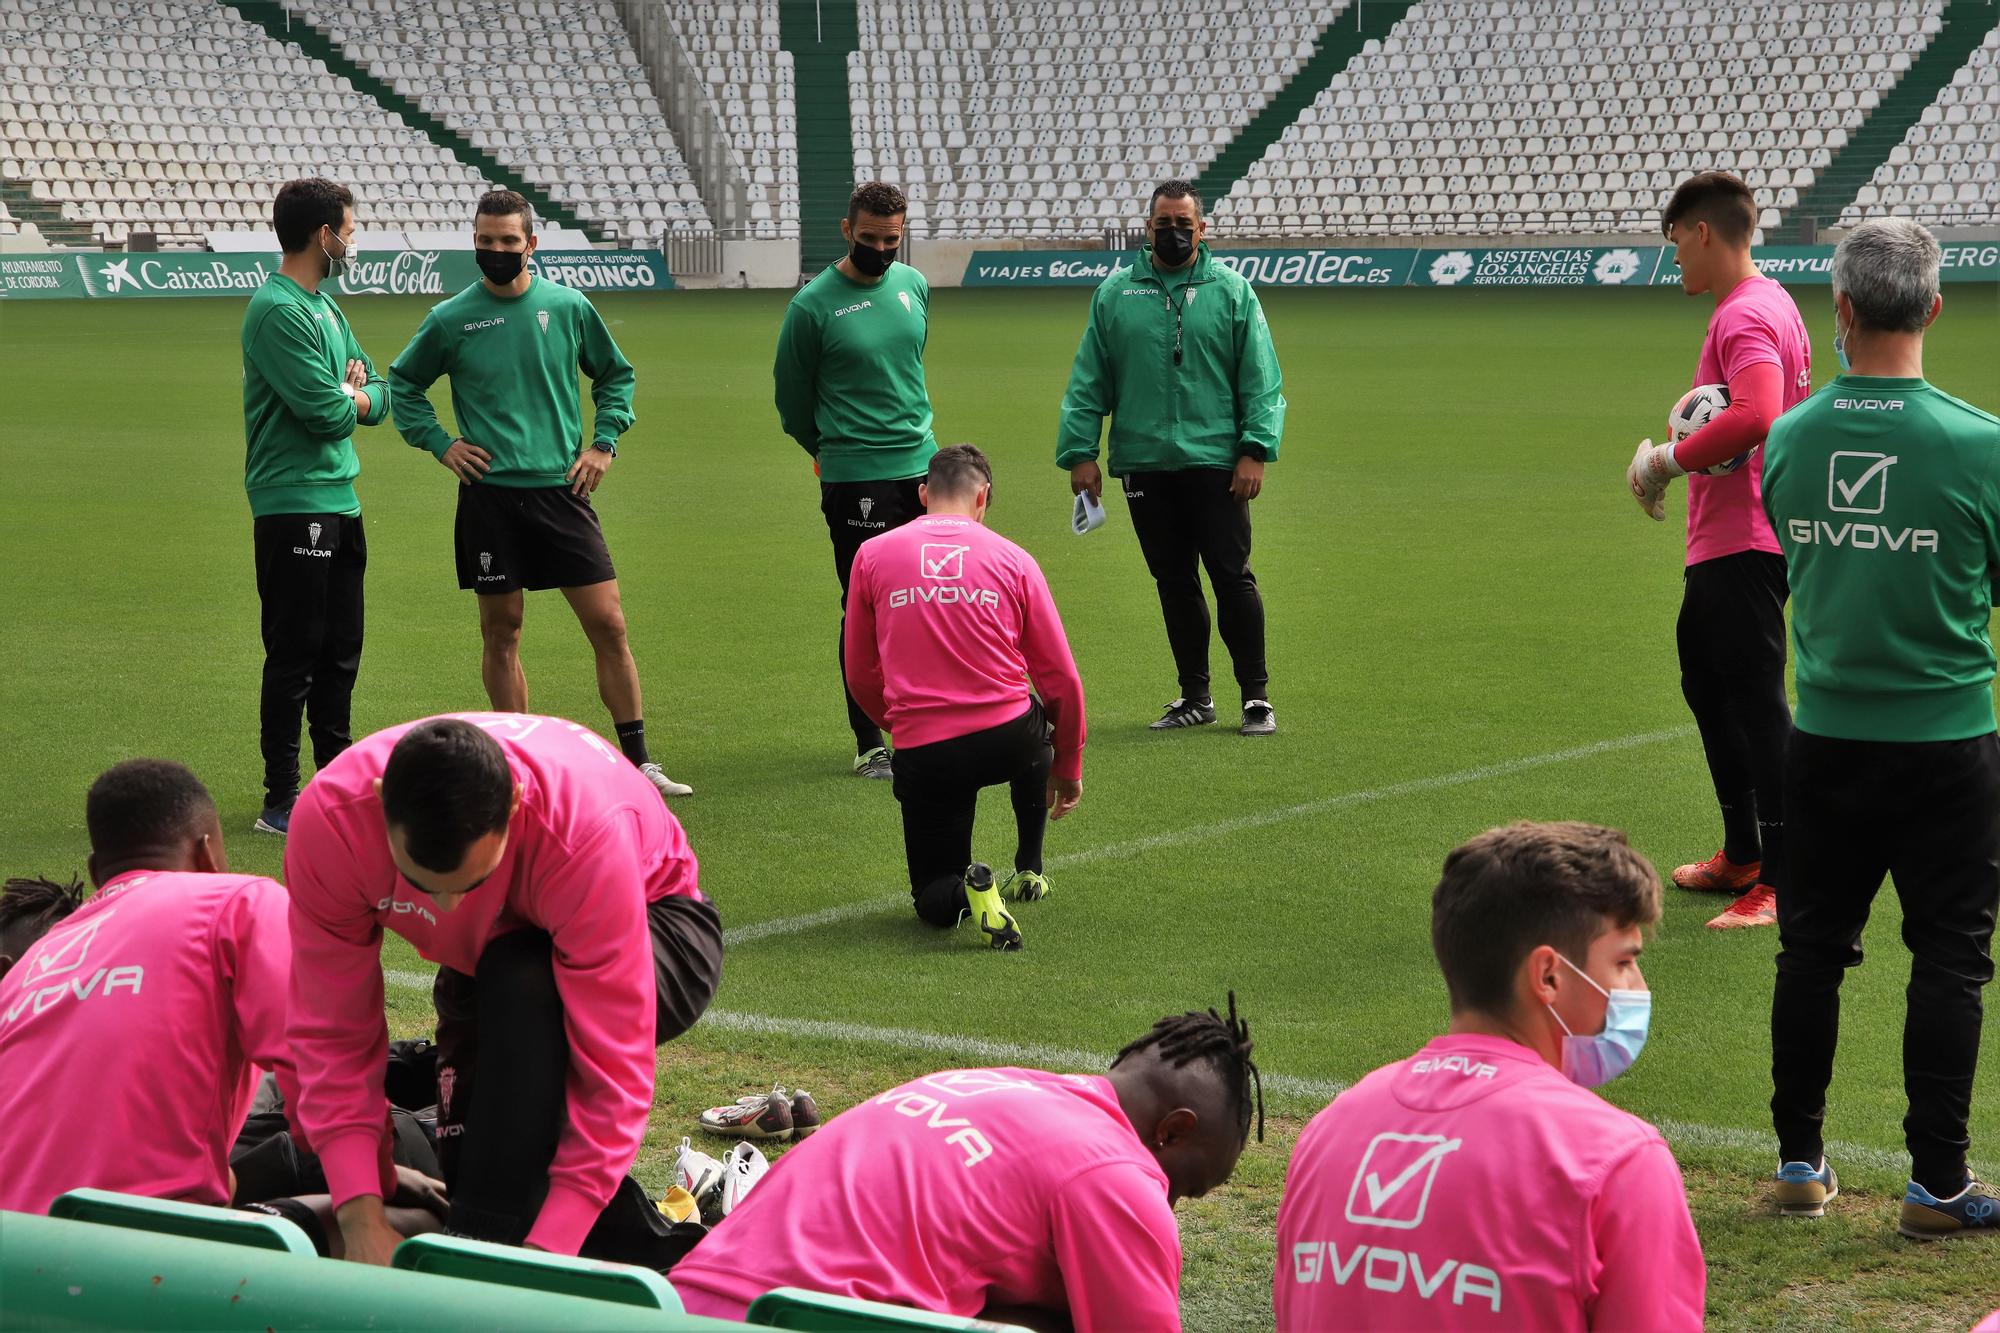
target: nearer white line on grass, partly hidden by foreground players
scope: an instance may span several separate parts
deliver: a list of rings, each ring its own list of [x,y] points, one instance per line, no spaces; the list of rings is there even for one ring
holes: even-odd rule
[[[430,977],[424,973],[386,971],[384,979],[392,987],[408,991],[428,991]],[[1022,1065],[1028,1069],[1052,1071],[1094,1071],[1108,1069],[1112,1057],[1102,1051],[1080,1051],[1072,1047],[1050,1047],[1040,1043],[992,1041],[986,1037],[954,1037],[950,1033],[924,1033],[910,1027],[874,1027],[866,1023],[834,1023],[830,1019],[778,1019],[760,1013],[736,1013],[732,1009],[710,1009],[698,1027],[726,1033],[750,1033],[756,1037],[794,1037],[818,1043],[848,1043],[868,1047],[892,1047],[896,1051],[930,1051],[948,1057],[974,1057],[990,1063]],[[1308,1103],[1328,1103],[1348,1089],[1340,1079],[1298,1079],[1282,1073],[1266,1073],[1264,1087],[1280,1097]],[[1732,1153],[1778,1151],[1776,1137],[1768,1131],[1722,1129],[1698,1125],[1694,1121],[1662,1119],[1652,1121],[1670,1143],[1682,1147],[1712,1147]],[[1840,1165],[1864,1165],[1882,1171],[1902,1171],[1908,1163],[1904,1153],[1866,1147],[1862,1143],[1828,1143],[1828,1155]]]

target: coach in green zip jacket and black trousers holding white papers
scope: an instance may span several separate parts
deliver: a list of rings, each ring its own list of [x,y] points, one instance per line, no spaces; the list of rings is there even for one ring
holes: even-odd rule
[[[1242,687],[1242,735],[1278,729],[1264,664],[1264,598],[1250,572],[1250,500],[1284,434],[1284,380],[1256,292],[1218,264],[1202,200],[1184,180],[1152,192],[1152,244],[1090,298],[1090,326],[1062,396],[1056,464],[1070,490],[1104,490],[1098,436],[1112,418],[1110,470],[1124,480],[1132,530],[1160,586],[1180,699],[1154,731],[1216,721],[1208,697],[1208,602]]]

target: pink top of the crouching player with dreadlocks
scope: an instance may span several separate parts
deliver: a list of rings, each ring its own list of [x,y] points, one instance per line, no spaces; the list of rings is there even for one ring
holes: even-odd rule
[[[1110,1079],[954,1069],[828,1121],[674,1267],[690,1315],[774,1287],[1178,1329],[1180,1231]]]

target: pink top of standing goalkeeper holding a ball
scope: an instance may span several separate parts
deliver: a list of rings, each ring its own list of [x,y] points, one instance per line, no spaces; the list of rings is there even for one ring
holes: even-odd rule
[[[1762,274],[1744,278],[1708,318],[1694,384],[1730,384],[1746,366],[1772,362],[1784,378],[1784,410],[1812,394],[1812,340],[1792,294]],[[1692,436],[1690,436],[1692,438]],[[1764,514],[1764,440],[1726,476],[1688,474],[1688,564],[1744,550],[1782,554]]]

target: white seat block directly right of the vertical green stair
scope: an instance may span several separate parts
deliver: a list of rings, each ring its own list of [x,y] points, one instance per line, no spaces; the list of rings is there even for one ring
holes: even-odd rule
[[[1142,184],[1198,174],[1344,8],[862,0],[854,174],[932,236],[1132,226]]]

